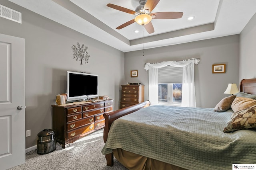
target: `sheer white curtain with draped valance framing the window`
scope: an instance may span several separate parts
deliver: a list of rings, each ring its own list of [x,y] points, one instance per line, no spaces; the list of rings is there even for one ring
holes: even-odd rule
[[[200,61],[200,60],[199,60]],[[158,68],[165,66],[183,67],[182,76],[182,102],[183,107],[196,107],[194,63],[199,63],[198,59],[188,61],[164,61],[162,63],[146,63],[145,70],[148,70],[148,100],[150,103],[158,103]]]

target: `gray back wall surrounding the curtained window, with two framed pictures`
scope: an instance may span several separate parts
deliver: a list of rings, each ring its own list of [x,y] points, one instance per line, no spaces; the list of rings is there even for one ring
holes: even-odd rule
[[[228,83],[239,86],[239,35],[195,41],[167,47],[144,49],[125,53],[125,82],[140,82],[145,85],[145,100],[148,99],[148,71],[144,63],[177,61],[200,58],[195,65],[196,106],[213,108],[227,94]],[[226,73],[212,74],[212,64],[226,64]],[[138,77],[130,77],[130,70],[138,70]]]

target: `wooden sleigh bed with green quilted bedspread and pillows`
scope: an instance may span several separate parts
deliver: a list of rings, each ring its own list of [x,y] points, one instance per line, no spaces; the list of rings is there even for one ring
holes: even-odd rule
[[[130,170],[231,169],[256,163],[256,78],[215,108],[150,106],[104,113],[108,166]]]

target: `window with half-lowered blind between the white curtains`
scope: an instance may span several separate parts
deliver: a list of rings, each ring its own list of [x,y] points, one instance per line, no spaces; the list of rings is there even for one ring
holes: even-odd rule
[[[158,68],[158,102],[181,105],[182,67]]]

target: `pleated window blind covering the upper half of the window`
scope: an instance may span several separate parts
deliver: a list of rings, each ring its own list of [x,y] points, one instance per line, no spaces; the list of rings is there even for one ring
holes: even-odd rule
[[[182,83],[183,67],[158,68],[158,83]]]

